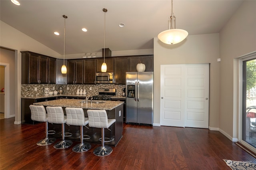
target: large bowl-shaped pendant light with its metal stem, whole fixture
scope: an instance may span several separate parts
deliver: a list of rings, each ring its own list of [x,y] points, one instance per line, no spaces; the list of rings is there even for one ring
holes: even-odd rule
[[[176,17],[173,12],[169,19],[169,30],[165,30],[158,34],[158,39],[166,44],[176,44],[182,42],[187,36],[188,32],[182,29],[176,29]]]

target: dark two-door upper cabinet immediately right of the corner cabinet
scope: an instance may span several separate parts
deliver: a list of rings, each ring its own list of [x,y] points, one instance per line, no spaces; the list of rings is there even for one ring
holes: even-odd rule
[[[83,60],[68,60],[67,74],[68,84],[82,84],[83,83]]]

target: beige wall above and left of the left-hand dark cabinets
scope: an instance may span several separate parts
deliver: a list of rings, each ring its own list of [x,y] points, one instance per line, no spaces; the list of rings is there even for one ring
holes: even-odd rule
[[[15,50],[15,124],[21,121],[21,102],[20,102],[20,84],[21,84],[21,53],[20,51],[33,51],[36,53],[49,55],[58,58],[59,53],[46,47],[42,43],[26,36],[22,32],[0,21],[0,46]]]

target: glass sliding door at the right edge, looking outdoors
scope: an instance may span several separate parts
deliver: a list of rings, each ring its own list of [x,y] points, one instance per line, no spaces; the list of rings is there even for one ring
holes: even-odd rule
[[[256,56],[242,61],[242,140],[256,148]]]

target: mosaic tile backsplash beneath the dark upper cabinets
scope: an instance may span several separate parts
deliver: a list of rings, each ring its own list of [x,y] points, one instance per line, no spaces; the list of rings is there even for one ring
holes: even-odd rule
[[[64,95],[76,95],[77,89],[86,90],[87,94],[98,95],[98,89],[116,89],[116,95],[122,95],[122,89],[125,85],[115,84],[91,84],[91,85],[57,85],[57,84],[22,84],[21,85],[21,97],[25,96],[40,96],[44,95],[44,88],[48,87],[58,90],[60,87],[64,90]],[[90,87],[92,90],[90,90]],[[37,91],[35,91],[37,89]]]

